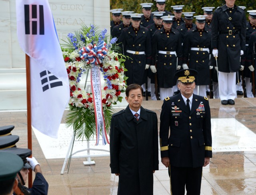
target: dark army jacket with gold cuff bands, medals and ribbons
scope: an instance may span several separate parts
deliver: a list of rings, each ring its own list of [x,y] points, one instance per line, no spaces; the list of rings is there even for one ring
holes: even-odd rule
[[[160,120],[161,158],[169,157],[170,165],[202,167],[204,158],[212,157],[208,98],[193,94],[190,112],[181,93],[165,98]]]

